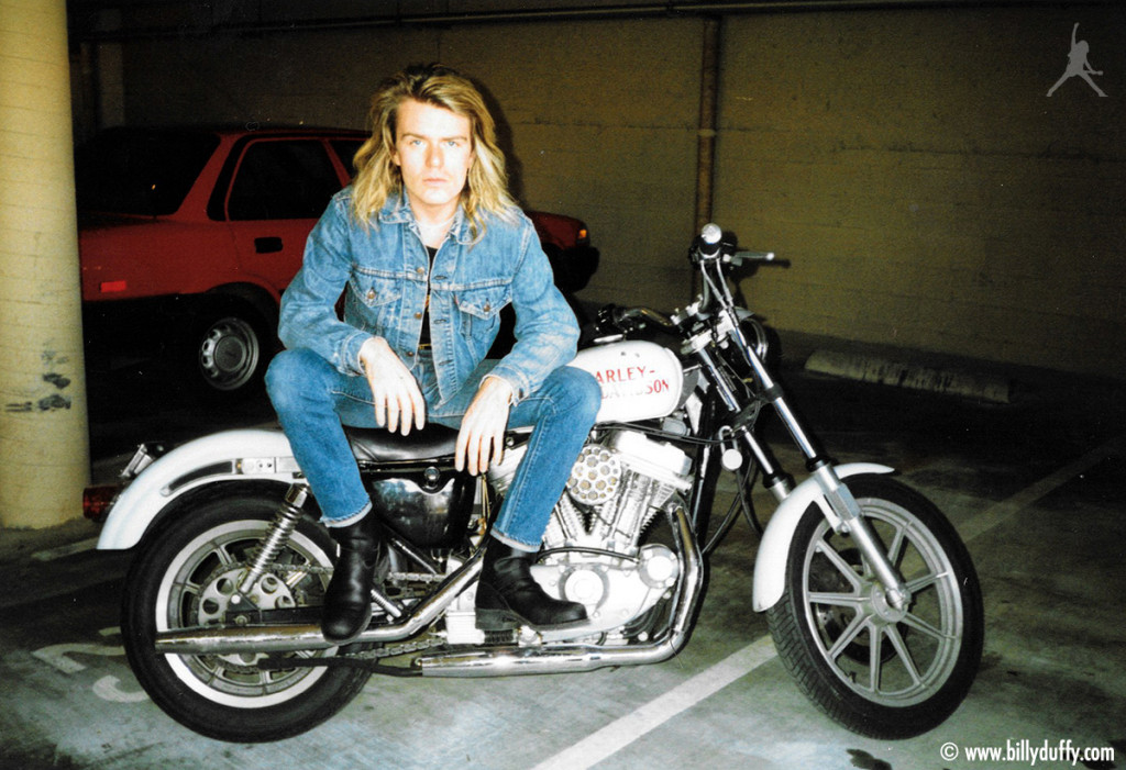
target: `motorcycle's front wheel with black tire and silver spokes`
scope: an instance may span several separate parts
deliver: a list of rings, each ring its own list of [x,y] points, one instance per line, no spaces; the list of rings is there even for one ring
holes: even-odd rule
[[[851,731],[905,739],[941,724],[973,683],[984,637],[981,588],[954,527],[927,498],[884,477],[847,481],[911,591],[893,607],[866,559],[821,510],[805,511],[783,597],[767,613],[786,668]]]

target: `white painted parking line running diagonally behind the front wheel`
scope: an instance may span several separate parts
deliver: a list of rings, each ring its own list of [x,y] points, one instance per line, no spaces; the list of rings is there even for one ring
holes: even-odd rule
[[[1020,510],[1099,464],[1123,445],[1126,435],[1117,436],[1055,473],[1046,475],[1016,495],[997,502],[958,526],[963,541],[969,543],[1008,522]],[[540,762],[535,770],[584,770],[651,733],[681,712],[691,708],[727,685],[742,679],[763,663],[777,658],[774,642],[762,636],[664,695],[626,714],[582,741]]]

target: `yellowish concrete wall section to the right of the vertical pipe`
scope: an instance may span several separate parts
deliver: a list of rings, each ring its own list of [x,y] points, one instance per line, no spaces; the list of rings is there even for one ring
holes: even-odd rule
[[[1063,74],[1074,22],[1100,98]],[[1126,15],[729,19],[716,219],[784,329],[1126,375]]]

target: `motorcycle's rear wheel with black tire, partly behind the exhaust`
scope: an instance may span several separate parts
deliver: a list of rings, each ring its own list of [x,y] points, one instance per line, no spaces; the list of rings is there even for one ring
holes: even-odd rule
[[[343,668],[263,670],[257,663],[265,655],[257,653],[155,652],[158,632],[253,622],[234,597],[278,499],[244,491],[181,511],[144,541],[126,579],[122,631],[137,680],[171,717],[211,737],[258,742],[296,735],[340,710],[369,676]],[[323,604],[333,547],[322,528],[302,520],[252,591],[257,609]],[[294,656],[320,654],[327,653]]]

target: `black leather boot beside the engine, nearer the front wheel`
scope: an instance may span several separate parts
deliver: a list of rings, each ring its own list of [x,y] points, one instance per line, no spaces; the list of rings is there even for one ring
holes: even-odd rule
[[[587,608],[581,604],[560,601],[544,592],[531,577],[535,560],[535,553],[489,540],[477,579],[477,628],[508,631],[527,625],[558,631],[587,620]]]

